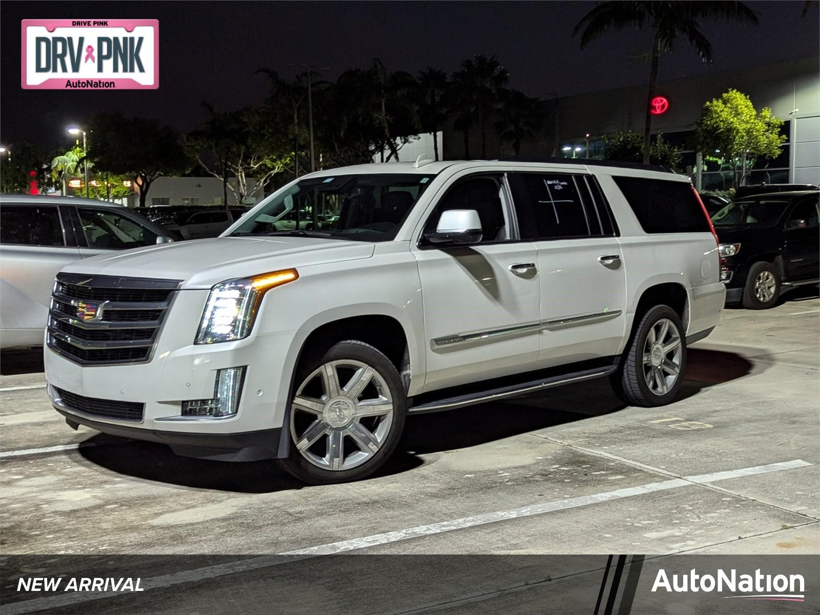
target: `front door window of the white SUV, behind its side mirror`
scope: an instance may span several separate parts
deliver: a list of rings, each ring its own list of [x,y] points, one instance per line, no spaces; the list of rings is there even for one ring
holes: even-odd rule
[[[435,231],[441,212],[474,209],[481,220],[481,244],[508,239],[508,225],[501,203],[501,180],[489,175],[470,177],[451,186],[427,218],[424,235]],[[422,236],[424,236],[422,235]]]

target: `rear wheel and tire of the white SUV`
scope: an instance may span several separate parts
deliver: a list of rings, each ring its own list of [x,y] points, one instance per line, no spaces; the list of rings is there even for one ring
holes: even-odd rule
[[[663,344],[658,344],[658,338]],[[672,307],[656,305],[635,327],[610,381],[624,403],[654,408],[676,399],[685,371],[686,335],[681,318]]]

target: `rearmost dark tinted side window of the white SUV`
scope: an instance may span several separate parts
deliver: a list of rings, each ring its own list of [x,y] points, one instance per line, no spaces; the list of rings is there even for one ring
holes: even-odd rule
[[[682,181],[613,177],[646,233],[709,233],[692,187]]]

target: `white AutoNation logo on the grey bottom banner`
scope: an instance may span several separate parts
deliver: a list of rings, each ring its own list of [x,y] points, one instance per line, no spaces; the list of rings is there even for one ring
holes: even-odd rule
[[[666,590],[670,593],[688,592],[731,592],[736,595],[722,598],[742,598],[747,600],[782,600],[785,602],[803,602],[805,599],[805,581],[803,575],[770,575],[760,569],[754,574],[738,574],[732,569],[728,573],[721,568],[717,574],[699,575],[695,568],[684,574],[672,574],[670,581],[667,572],[661,568],[655,576],[652,591]]]

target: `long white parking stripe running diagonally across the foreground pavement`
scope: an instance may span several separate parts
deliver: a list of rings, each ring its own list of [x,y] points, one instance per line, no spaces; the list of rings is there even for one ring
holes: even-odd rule
[[[695,476],[684,476],[683,478],[676,478],[671,481],[648,483],[646,485],[627,487],[625,489],[605,491],[604,493],[599,494],[584,495],[579,498],[561,499],[554,502],[534,504],[532,506],[525,506],[522,508],[512,508],[511,510],[487,512],[485,514],[475,515],[473,517],[462,517],[461,519],[453,519],[451,521],[430,523],[425,526],[410,527],[406,530],[399,531],[389,531],[383,534],[363,536],[362,538],[354,538],[352,540],[339,540],[339,542],[320,544],[315,547],[308,547],[307,549],[296,549],[294,551],[287,551],[277,555],[262,555],[257,558],[242,559],[236,562],[194,568],[193,570],[185,570],[182,572],[171,572],[170,574],[153,576],[151,578],[144,579],[142,587],[144,591],[159,590],[166,587],[172,587],[174,585],[181,585],[183,583],[192,583],[194,581],[203,581],[204,579],[213,579],[219,576],[277,566],[279,564],[293,562],[297,559],[315,558],[319,555],[355,551],[357,549],[365,549],[367,547],[380,544],[399,542],[399,540],[408,540],[411,538],[418,538],[420,536],[442,534],[447,531],[462,530],[468,527],[481,526],[488,523],[506,521],[508,519],[532,517],[534,515],[541,515],[546,512],[566,510],[567,508],[577,508],[579,506],[588,506],[590,504],[600,502],[611,502],[616,499],[629,498],[633,495],[657,493],[658,491],[672,490],[677,489],[678,487],[704,485],[714,481],[726,481],[730,478],[768,474],[769,472],[790,470],[797,467],[807,467],[812,465],[813,463],[804,462],[802,459],[795,459],[789,462],[769,463],[765,466],[741,467],[737,470],[713,472],[710,474],[698,474]],[[95,594],[57,594],[45,598],[35,598],[31,600],[22,600],[21,602],[12,604],[5,604],[0,606],[0,615],[22,615],[23,613],[33,613],[34,611],[45,609],[62,608],[71,604],[81,604],[85,602],[92,602],[94,600],[114,598],[121,595],[123,595],[121,592],[113,591]]]

